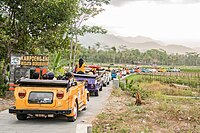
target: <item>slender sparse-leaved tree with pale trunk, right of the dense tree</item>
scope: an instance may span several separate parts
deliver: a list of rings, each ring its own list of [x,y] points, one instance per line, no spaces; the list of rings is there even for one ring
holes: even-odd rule
[[[77,42],[78,36],[83,36],[85,33],[106,33],[107,31],[99,26],[86,26],[83,25],[83,22],[88,19],[95,17],[104,9],[103,5],[109,4],[110,0],[79,0],[78,8],[75,17],[73,18],[73,23],[71,24],[70,30],[70,62],[72,61],[72,67],[75,65],[76,51],[77,51]],[[75,45],[73,47],[73,45]],[[74,48],[74,49],[73,49]]]

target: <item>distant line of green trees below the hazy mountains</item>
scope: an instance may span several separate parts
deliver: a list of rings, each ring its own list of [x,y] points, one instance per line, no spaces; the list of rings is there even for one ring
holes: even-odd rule
[[[183,68],[186,71],[200,70],[200,56],[198,53],[169,54],[164,50],[151,49],[145,52],[129,49],[126,46],[109,47],[101,43],[80,49],[80,55],[88,62],[113,64],[141,64],[149,67],[157,64],[169,67]],[[92,54],[91,54],[92,53]],[[194,66],[193,68],[188,66]]]

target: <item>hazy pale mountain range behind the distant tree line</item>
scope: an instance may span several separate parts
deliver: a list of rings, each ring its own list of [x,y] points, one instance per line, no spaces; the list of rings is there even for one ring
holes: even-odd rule
[[[79,42],[84,46],[95,46],[97,43],[100,47],[113,47],[120,49],[125,46],[128,49],[139,49],[144,52],[150,49],[162,49],[167,53],[185,54],[186,52],[200,52],[200,47],[190,48],[181,44],[165,44],[164,42],[153,40],[149,37],[136,36],[136,37],[123,37],[112,34],[86,34],[79,38]]]

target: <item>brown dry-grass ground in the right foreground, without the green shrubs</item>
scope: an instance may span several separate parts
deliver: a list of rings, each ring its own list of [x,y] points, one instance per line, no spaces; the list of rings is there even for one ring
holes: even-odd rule
[[[200,99],[157,95],[136,106],[127,91],[113,90],[93,121],[94,133],[200,133]]]

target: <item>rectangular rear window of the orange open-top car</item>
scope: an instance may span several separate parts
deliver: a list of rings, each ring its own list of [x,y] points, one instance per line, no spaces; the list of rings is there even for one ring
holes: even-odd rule
[[[30,104],[52,104],[53,92],[31,92],[28,103]]]

